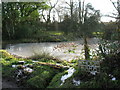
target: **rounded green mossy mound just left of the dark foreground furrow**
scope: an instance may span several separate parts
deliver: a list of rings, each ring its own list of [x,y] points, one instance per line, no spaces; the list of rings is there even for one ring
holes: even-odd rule
[[[50,68],[49,66],[39,65],[34,67],[34,72],[32,73],[31,78],[27,80],[27,86],[46,88],[54,75],[58,72],[59,70]]]

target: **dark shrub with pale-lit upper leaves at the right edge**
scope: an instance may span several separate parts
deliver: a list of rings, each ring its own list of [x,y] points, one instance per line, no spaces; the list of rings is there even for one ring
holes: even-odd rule
[[[103,57],[101,63],[101,71],[112,74],[116,78],[120,78],[120,44],[118,41],[103,40],[100,42],[100,54]]]

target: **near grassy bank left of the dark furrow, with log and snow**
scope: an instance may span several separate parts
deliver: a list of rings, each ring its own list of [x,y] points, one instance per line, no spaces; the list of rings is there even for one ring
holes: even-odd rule
[[[52,78],[66,70],[64,62],[52,60],[52,58],[41,57],[37,61],[31,59],[16,58],[5,50],[0,50],[2,64],[2,77],[11,78],[19,85],[28,88],[46,88],[49,86]],[[61,65],[56,65],[59,63]],[[26,67],[25,67],[26,66]],[[29,70],[27,70],[29,68]],[[23,72],[23,70],[25,70]],[[18,75],[21,70],[22,74]],[[31,72],[30,72],[31,70]]]

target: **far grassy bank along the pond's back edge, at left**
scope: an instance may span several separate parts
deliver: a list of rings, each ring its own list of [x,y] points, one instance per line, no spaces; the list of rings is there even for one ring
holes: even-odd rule
[[[8,44],[17,44],[17,43],[39,43],[39,42],[61,42],[66,41],[66,37],[63,32],[60,31],[41,31],[35,36],[21,38],[21,39],[11,39],[3,40],[2,48],[5,48]]]

